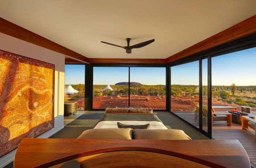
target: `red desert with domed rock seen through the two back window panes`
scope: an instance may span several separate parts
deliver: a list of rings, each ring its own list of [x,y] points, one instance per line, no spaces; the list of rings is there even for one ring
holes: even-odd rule
[[[93,108],[128,107],[129,88],[126,82],[110,85],[113,90],[102,91],[106,85],[93,86]],[[166,109],[165,85],[142,85],[131,82],[130,107]]]

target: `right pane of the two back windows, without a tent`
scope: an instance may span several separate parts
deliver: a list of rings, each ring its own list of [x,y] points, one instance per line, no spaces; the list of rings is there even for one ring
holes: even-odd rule
[[[130,68],[130,107],[166,109],[166,68]]]

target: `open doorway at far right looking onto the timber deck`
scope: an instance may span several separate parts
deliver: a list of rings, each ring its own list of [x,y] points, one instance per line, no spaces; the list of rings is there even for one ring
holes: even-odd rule
[[[211,63],[215,112],[244,111],[248,113],[246,117],[256,120],[256,48],[212,57]],[[218,121],[220,116],[213,116],[212,137],[239,140],[250,161],[256,162],[256,152],[252,150],[256,147],[253,122],[246,121],[244,125],[248,128],[245,130],[242,129],[243,116],[231,113],[231,125],[225,120]]]

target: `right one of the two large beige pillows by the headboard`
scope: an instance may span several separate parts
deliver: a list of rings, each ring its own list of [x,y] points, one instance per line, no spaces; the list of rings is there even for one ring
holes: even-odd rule
[[[155,140],[190,140],[191,138],[179,129],[134,129],[133,139]]]

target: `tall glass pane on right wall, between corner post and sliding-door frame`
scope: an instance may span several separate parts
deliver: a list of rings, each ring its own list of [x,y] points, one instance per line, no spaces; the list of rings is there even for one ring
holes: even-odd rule
[[[171,67],[171,111],[199,127],[199,61]]]

